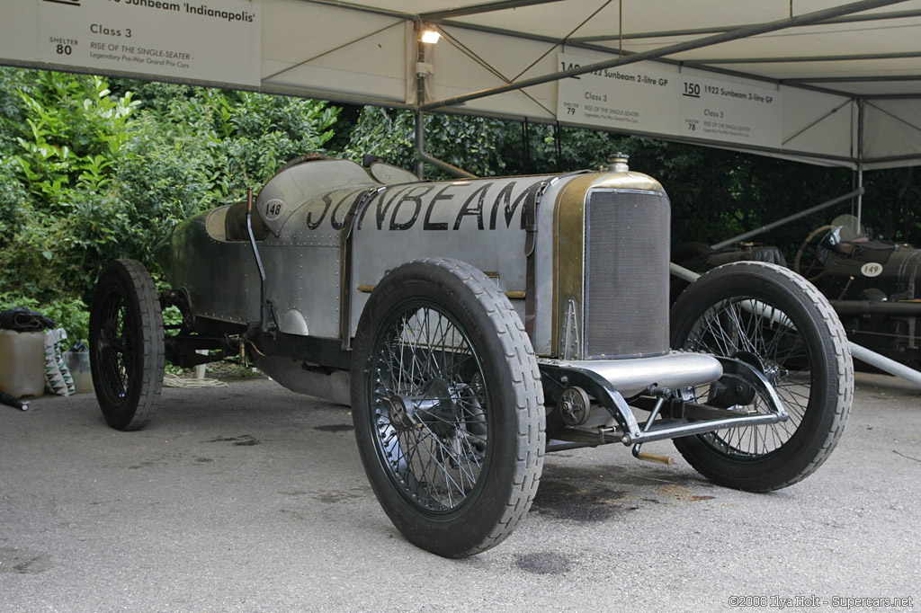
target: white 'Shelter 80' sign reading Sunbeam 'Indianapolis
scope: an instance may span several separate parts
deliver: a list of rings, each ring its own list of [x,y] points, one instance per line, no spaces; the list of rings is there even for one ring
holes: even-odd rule
[[[35,43],[0,44],[0,59],[251,87],[261,82],[262,7],[256,3],[2,1],[5,11],[17,3],[18,18],[5,20],[0,36],[34,37]]]

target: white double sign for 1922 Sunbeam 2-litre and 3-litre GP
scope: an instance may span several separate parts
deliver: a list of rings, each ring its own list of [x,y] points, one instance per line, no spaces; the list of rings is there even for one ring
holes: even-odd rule
[[[560,53],[558,68],[599,60]],[[783,105],[766,87],[667,72],[638,62],[559,81],[559,121],[778,148]]]

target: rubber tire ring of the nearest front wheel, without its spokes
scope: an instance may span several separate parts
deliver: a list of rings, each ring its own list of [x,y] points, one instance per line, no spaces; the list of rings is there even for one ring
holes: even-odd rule
[[[367,368],[375,335],[387,310],[426,295],[456,309],[468,332],[481,343],[495,370],[493,388],[502,411],[490,474],[483,473],[481,498],[461,515],[439,522],[417,514],[385,478],[367,432]],[[436,302],[438,302],[436,300]],[[455,302],[456,301],[456,302]],[[380,321],[379,321],[380,320]],[[391,521],[411,542],[449,558],[471,556],[505,540],[530,509],[541,482],[546,426],[543,386],[530,338],[514,307],[495,282],[470,264],[449,258],[423,258],[389,272],[362,312],[352,358],[352,406],[356,439],[368,479]],[[370,438],[369,438],[370,437]],[[499,463],[501,462],[501,463]],[[488,495],[485,494],[488,488]]]

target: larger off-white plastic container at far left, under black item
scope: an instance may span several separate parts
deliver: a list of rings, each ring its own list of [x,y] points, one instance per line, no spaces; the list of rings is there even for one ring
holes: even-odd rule
[[[0,389],[13,396],[45,390],[45,345],[41,332],[0,330]]]

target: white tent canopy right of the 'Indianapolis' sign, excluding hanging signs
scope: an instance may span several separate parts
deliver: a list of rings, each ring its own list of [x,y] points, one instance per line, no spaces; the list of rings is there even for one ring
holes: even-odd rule
[[[264,2],[264,31],[277,31],[275,19],[279,27],[312,27],[263,44],[262,87],[413,105],[420,24],[443,34],[426,57],[432,110],[458,110],[457,104],[442,105],[461,98],[462,112],[577,124],[556,114],[557,81],[463,99],[554,75],[561,52],[595,62],[619,59],[615,66],[639,54],[656,58],[662,73],[775,88],[783,97],[779,142],[714,143],[643,124],[615,129],[853,167],[921,161],[921,2],[512,0],[455,6],[438,0],[361,7]],[[755,33],[759,29],[764,33]],[[682,46],[689,48],[670,52]]]

